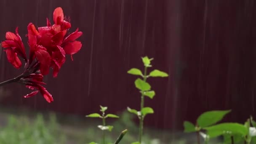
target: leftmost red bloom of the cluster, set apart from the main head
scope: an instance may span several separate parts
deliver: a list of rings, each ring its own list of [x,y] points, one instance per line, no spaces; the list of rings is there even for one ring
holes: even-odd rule
[[[4,51],[6,52],[7,59],[13,67],[19,69],[21,67],[21,61],[17,54],[21,56],[25,62],[27,62],[27,56],[21,37],[19,36],[18,27],[16,28],[16,34],[6,32],[5,38],[6,40],[2,42],[2,47],[6,48]]]

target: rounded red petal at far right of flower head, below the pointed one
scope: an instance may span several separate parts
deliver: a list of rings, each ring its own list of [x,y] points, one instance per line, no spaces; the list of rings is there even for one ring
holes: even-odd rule
[[[63,47],[66,54],[75,54],[77,53],[82,47],[82,43],[80,41],[73,41],[66,43]]]

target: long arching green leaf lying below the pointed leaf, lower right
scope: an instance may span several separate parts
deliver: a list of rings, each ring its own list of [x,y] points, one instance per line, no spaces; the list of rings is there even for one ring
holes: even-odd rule
[[[207,131],[222,131],[232,134],[247,135],[248,129],[240,123],[221,123],[210,127],[203,128]]]

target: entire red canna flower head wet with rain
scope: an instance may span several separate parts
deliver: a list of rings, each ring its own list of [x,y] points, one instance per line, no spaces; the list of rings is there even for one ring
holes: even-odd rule
[[[46,101],[53,101],[52,95],[46,90],[43,83],[43,75],[49,73],[49,68],[53,68],[53,77],[59,73],[61,66],[66,61],[66,54],[72,55],[80,51],[82,44],[76,39],[83,32],[79,32],[78,28],[70,35],[66,35],[71,27],[69,20],[64,18],[62,8],[56,8],[53,11],[54,24],[51,25],[49,19],[46,19],[46,27],[36,28],[34,24],[29,23],[28,30],[28,45],[30,47],[29,59],[27,59],[24,45],[16,28],[16,34],[6,32],[6,40],[2,42],[2,47],[5,48],[8,61],[17,69],[22,65],[18,56],[24,59],[24,72],[14,78],[11,82],[24,83],[27,88],[36,91],[27,94],[25,98],[35,96],[40,92]]]

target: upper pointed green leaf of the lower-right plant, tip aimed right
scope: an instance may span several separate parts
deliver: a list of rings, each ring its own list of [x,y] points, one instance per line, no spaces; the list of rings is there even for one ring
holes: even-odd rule
[[[216,111],[204,112],[202,115],[200,115],[197,118],[197,124],[201,128],[213,125],[219,122],[220,120],[222,120],[222,118],[225,115],[227,115],[230,111],[231,110],[216,110]]]

